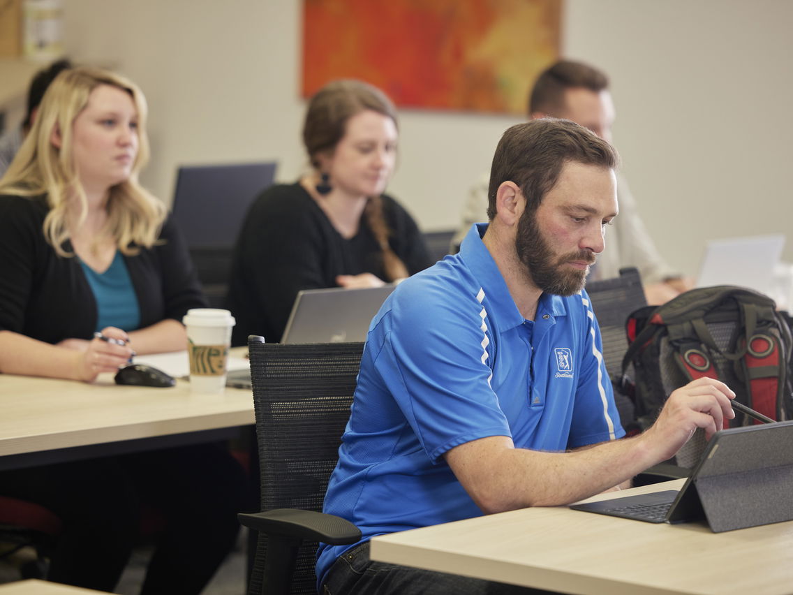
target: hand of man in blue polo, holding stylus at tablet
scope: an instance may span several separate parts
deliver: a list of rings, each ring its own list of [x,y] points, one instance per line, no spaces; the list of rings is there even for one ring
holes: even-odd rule
[[[661,415],[641,440],[657,449],[661,460],[669,459],[680,450],[697,428],[705,430],[710,439],[723,428],[724,419],[733,419],[730,406],[735,393],[724,382],[713,378],[698,378],[672,392]]]

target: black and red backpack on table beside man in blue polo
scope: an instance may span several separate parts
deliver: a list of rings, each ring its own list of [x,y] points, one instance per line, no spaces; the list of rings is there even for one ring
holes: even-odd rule
[[[636,310],[626,332],[623,392],[633,393],[642,429],[672,390],[703,376],[725,382],[737,401],[774,420],[793,417],[793,338],[771,298],[736,286],[703,287]],[[737,413],[730,425],[751,421]]]

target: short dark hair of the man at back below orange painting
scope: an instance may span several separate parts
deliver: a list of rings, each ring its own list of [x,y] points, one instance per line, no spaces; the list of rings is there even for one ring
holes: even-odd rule
[[[608,89],[608,77],[597,68],[559,60],[538,76],[529,95],[529,117],[532,113],[558,116],[565,109],[565,90],[584,88],[595,93]]]

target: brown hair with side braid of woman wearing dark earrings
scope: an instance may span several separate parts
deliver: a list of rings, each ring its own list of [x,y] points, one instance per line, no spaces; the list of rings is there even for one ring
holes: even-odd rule
[[[331,81],[322,87],[308,102],[308,110],[303,125],[303,144],[308,158],[319,169],[317,158],[322,152],[331,152],[347,132],[347,121],[351,117],[372,109],[391,118],[397,125],[397,109],[391,100],[376,86],[358,80]],[[391,230],[383,216],[383,200],[377,196],[369,197],[366,202],[366,222],[380,245],[383,269],[389,281],[408,277],[408,267],[391,249],[389,237]]]

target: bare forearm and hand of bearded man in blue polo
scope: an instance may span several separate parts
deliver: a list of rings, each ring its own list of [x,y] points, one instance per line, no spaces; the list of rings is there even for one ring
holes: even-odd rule
[[[697,378],[669,395],[641,436],[566,453],[519,449],[508,436],[489,436],[452,448],[446,462],[485,512],[569,504],[665,461],[697,428],[710,439],[735,417],[734,397],[723,382]]]

